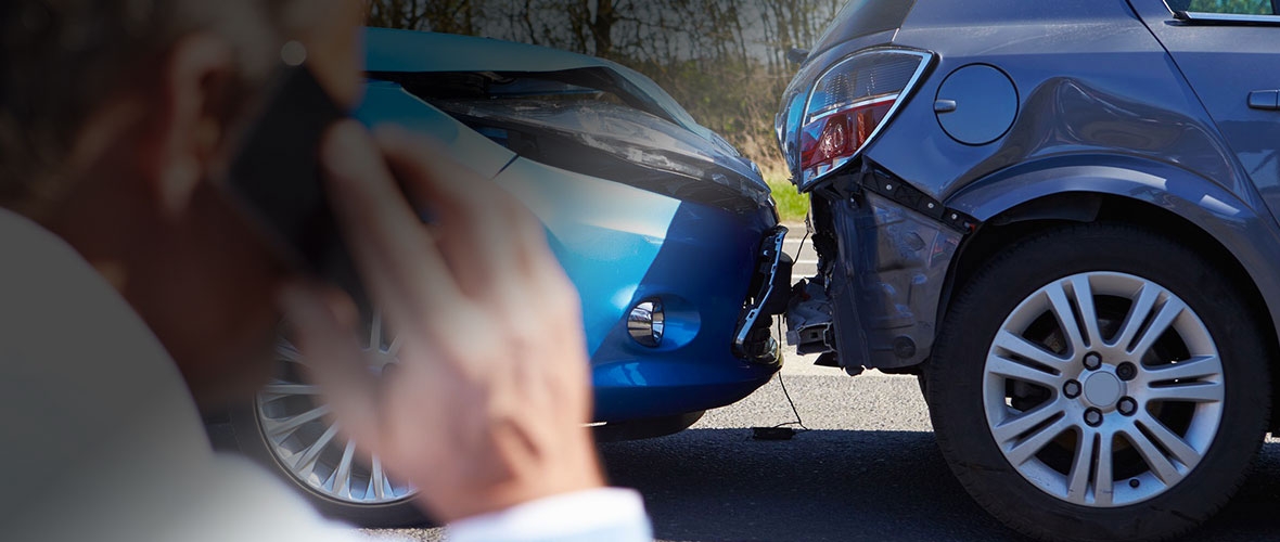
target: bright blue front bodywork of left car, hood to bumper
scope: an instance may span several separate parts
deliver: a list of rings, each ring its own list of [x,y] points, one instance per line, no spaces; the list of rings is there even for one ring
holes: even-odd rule
[[[518,115],[518,110],[512,114],[490,107],[476,112],[475,107],[456,109],[452,102],[445,110],[388,81],[396,79],[388,74],[602,68],[631,81],[644,100],[671,107],[672,118],[687,116],[657,86],[604,60],[493,40],[370,29],[366,46],[371,81],[357,118],[367,125],[390,123],[434,136],[451,156],[515,194],[541,221],[552,251],[581,298],[598,421],[650,419],[722,407],[746,396],[778,369],[780,360],[760,363],[732,350],[762,239],[777,226],[777,215],[767,188],[762,188],[763,179],[745,166],[749,162],[735,161],[736,151],[723,148],[718,136],[634,110],[637,130],[630,133],[643,136],[648,129],[650,136],[666,136],[617,147],[643,155],[635,156],[634,166],[654,175],[671,175],[690,185],[736,185],[731,193],[742,199],[736,206],[699,203],[637,188],[627,183],[630,179],[609,178],[635,171],[631,169],[584,174],[543,164],[463,121],[480,116],[515,120],[545,133],[591,139],[591,127],[576,125],[573,111]],[[424,52],[440,47],[462,52]],[[605,112],[630,121],[626,111]],[[602,138],[611,136],[604,128]],[[663,169],[672,160],[646,161],[676,155],[707,166],[672,171]],[[666,331],[657,348],[643,346],[627,331],[630,309],[652,298],[660,298],[666,308]],[[536,311],[531,307],[530,316],[536,317]]]

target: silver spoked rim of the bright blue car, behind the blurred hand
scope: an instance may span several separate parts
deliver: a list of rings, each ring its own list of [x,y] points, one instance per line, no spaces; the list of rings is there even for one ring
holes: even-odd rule
[[[370,369],[378,373],[396,362],[399,350],[378,316],[369,322],[362,346]],[[275,353],[276,375],[256,400],[259,428],[275,460],[316,493],[343,504],[385,505],[412,497],[417,491],[388,477],[376,455],[361,460],[356,442],[339,438],[320,390],[302,378],[307,363],[297,348],[280,337]]]

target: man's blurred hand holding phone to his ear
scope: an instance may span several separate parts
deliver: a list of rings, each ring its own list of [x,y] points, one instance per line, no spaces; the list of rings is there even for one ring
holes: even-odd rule
[[[330,199],[401,348],[375,377],[349,300],[291,288],[282,299],[312,377],[342,430],[438,520],[600,487],[577,291],[541,224],[433,147],[352,121],[328,134]]]

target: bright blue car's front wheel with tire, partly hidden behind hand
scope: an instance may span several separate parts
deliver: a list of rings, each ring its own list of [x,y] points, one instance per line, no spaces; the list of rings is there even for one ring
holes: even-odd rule
[[[375,335],[383,335],[381,330]],[[366,344],[366,354],[390,363],[394,353],[387,352],[389,343],[385,337],[372,343],[380,353],[370,353]],[[229,412],[239,451],[297,488],[329,518],[367,528],[429,524],[413,502],[417,491],[385,476],[376,458],[353,454],[355,445],[329,415],[321,415],[326,407],[303,378],[306,360],[284,337],[278,340],[274,363],[271,381],[251,401]],[[346,487],[339,479],[348,481]]]

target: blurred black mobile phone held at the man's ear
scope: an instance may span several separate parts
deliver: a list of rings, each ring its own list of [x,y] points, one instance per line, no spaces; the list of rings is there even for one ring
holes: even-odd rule
[[[320,139],[348,111],[305,64],[279,68],[252,111],[225,171],[230,199],[285,262],[367,308],[320,176]]]

